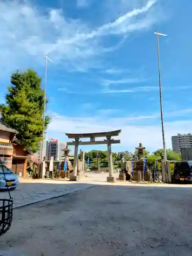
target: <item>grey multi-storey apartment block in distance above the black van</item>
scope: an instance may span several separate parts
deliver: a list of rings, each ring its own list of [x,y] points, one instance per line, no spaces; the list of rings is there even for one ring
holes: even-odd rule
[[[179,134],[177,136],[172,136],[172,148],[175,153],[181,153],[182,147],[192,147],[192,135]]]

